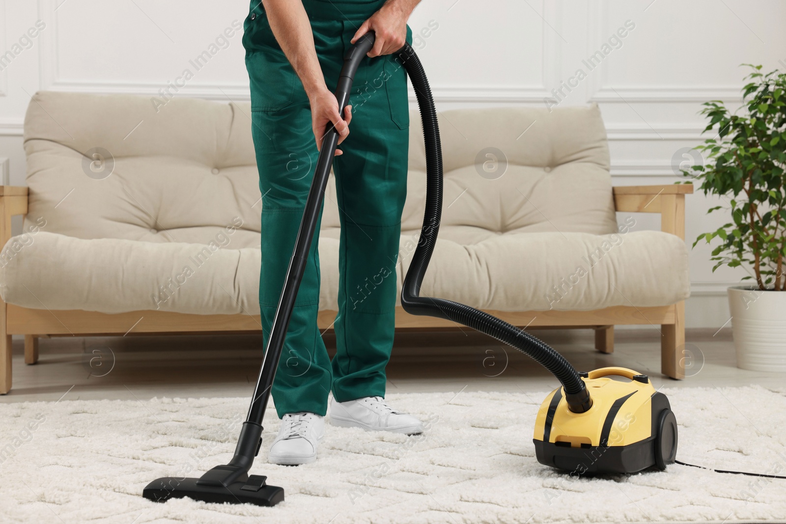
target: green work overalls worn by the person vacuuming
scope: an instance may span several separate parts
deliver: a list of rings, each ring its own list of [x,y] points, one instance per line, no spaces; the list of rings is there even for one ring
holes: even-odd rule
[[[355,31],[383,4],[384,0],[303,0],[329,90],[336,87]],[[409,27],[407,42],[412,42]],[[263,195],[259,307],[266,344],[318,150],[303,84],[270,30],[259,0],[252,0],[245,19],[243,46]],[[301,411],[324,416],[330,390],[340,402],[385,393],[410,123],[406,71],[395,57],[365,57],[354,77],[350,104],[351,133],[340,145],[343,155],[333,162],[341,222],[339,313],[333,326],[336,356],[331,362],[317,327],[317,230],[272,390],[279,417]]]

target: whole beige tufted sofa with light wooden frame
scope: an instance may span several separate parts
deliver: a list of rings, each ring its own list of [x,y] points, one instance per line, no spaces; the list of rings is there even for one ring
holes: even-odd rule
[[[25,335],[31,364],[45,335],[259,332],[250,117],[248,104],[179,98],[156,112],[147,97],[35,94],[24,123],[28,187],[0,189],[0,392],[11,387],[11,334]],[[445,204],[422,293],[516,325],[593,328],[604,352],[614,324],[649,324],[662,337],[663,372],[681,378],[691,186],[612,189],[596,106],[446,111],[440,128]],[[417,112],[410,134],[399,286],[424,207]],[[293,176],[307,174],[298,162],[293,154]],[[615,211],[659,213],[663,232],[635,230],[630,215],[618,226]],[[25,214],[24,232],[11,237],[14,214]],[[329,184],[323,328],[336,314],[338,238]],[[455,326],[399,308],[397,327]]]

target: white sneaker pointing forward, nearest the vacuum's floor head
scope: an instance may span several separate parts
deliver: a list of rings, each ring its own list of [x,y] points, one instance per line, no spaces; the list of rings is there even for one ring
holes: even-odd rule
[[[325,436],[325,417],[315,413],[287,413],[270,446],[270,464],[296,466],[317,460],[317,445]]]

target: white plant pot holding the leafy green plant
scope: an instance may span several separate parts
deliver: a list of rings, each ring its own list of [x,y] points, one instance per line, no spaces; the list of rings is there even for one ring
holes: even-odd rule
[[[729,288],[737,367],[786,372],[786,291]]]

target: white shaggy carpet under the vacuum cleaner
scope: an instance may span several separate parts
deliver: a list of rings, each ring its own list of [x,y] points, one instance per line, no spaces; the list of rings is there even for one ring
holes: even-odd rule
[[[786,474],[786,388],[663,390],[678,459]],[[73,392],[72,392],[73,394]],[[142,488],[225,464],[245,398],[0,405],[0,522],[784,522],[786,480],[670,466],[575,479],[543,467],[531,442],[544,394],[401,394],[430,421],[420,438],[326,428],[318,460],[266,464],[279,420],[267,413],[252,473],[283,486],[275,508],[156,504]],[[33,429],[30,429],[30,428]],[[9,447],[10,446],[10,447]]]

